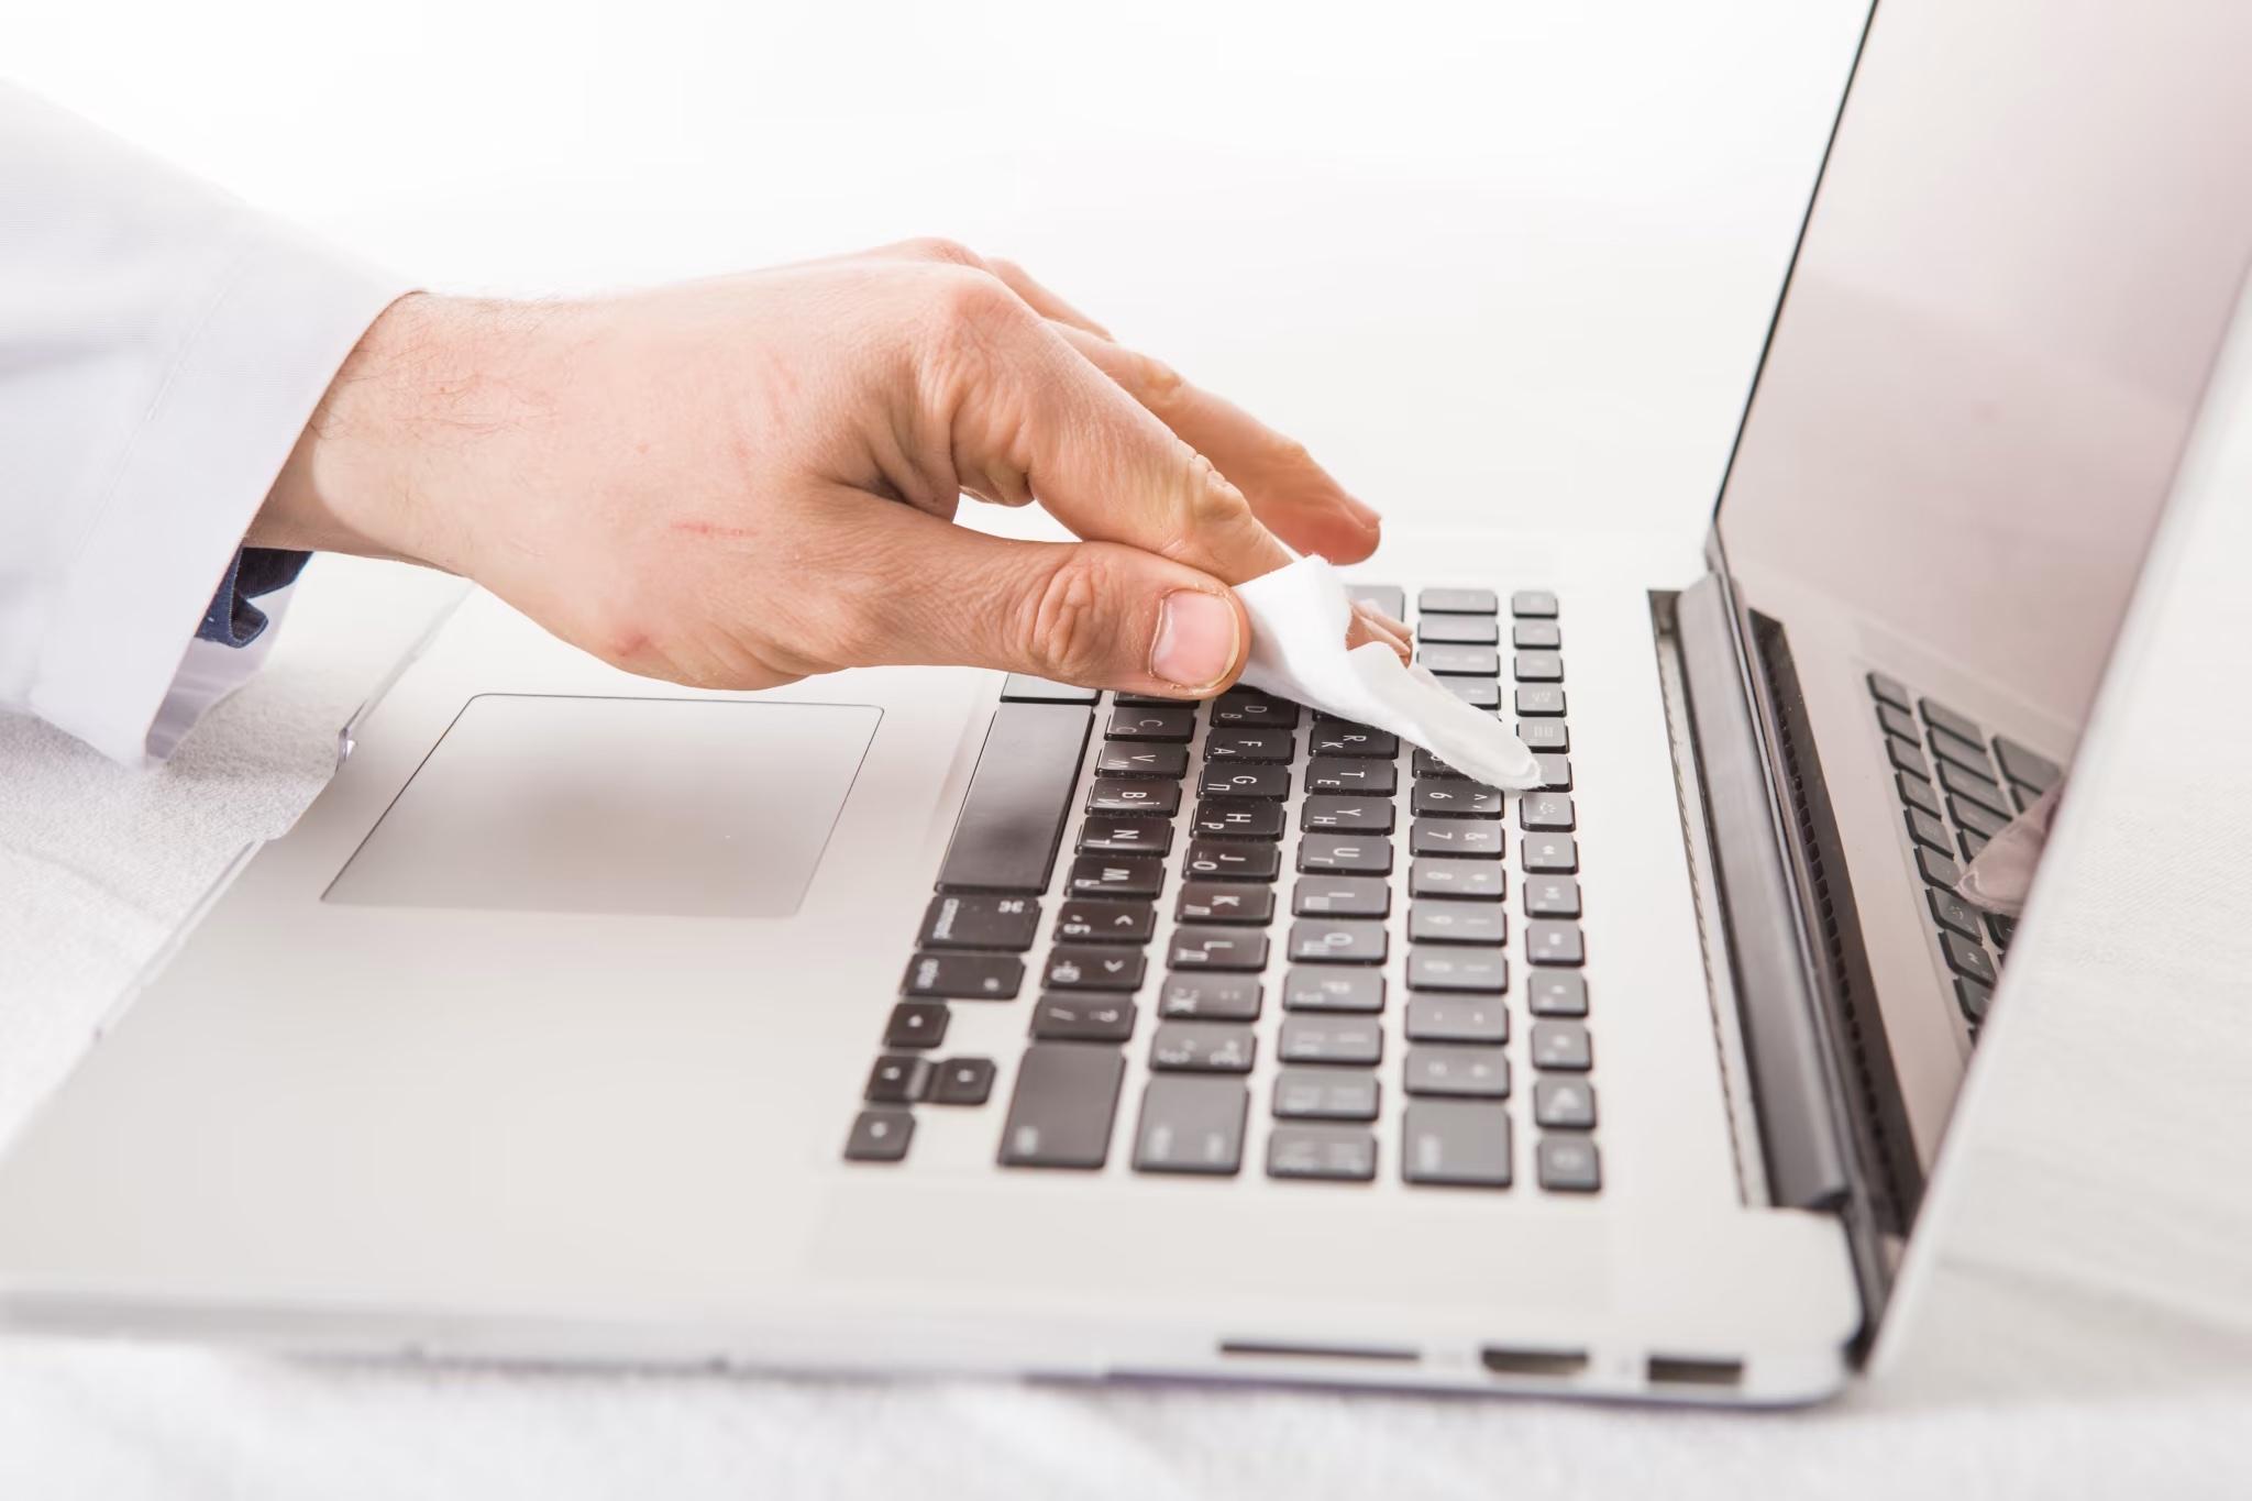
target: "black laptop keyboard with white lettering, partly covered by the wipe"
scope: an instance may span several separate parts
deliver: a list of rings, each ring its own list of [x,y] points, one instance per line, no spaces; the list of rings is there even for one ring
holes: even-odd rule
[[[1029,990],[1002,1168],[1597,1193],[1558,601],[1423,590],[1414,637],[1543,790],[1250,689],[1011,677],[844,1157],[905,1161],[917,1107],[986,1105],[995,1062],[941,1058],[950,1008]]]

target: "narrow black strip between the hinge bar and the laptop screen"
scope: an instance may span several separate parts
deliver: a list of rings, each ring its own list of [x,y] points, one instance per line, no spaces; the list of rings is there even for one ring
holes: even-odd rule
[[[1907,1112],[1892,1071],[1892,1049],[1885,1046],[1885,1024],[1876,1010],[1869,961],[1860,947],[1853,887],[1844,880],[1838,824],[1813,752],[1806,700],[1781,626],[1752,612],[1752,641],[1775,709],[1775,749],[1790,794],[1790,819],[1797,826],[1806,880],[1813,887],[1817,959],[1829,981],[1833,1013],[1844,1024],[1851,1085],[1860,1096],[1856,1116],[1865,1132],[1867,1159],[1876,1168],[1871,1208],[1885,1229],[1905,1231],[1914,1220],[1921,1181],[1907,1139]]]

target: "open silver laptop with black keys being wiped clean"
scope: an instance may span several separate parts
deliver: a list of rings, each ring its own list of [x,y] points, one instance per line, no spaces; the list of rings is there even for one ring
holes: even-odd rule
[[[1398,529],[1358,585],[1536,792],[1248,691],[694,693],[471,594],[11,1143],[0,1314],[1835,1391],[2040,1006],[1955,884],[2070,797],[2252,250],[2247,54],[1885,0],[1705,556]]]

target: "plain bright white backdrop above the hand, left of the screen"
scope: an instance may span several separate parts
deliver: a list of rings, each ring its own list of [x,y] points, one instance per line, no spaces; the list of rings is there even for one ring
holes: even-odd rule
[[[23,0],[0,68],[437,288],[948,234],[1371,504],[1696,538],[1862,0]]]

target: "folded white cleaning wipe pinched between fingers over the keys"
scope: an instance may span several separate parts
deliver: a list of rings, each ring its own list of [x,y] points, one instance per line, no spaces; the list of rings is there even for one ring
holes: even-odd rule
[[[1540,785],[1540,767],[1500,718],[1473,709],[1383,641],[1344,648],[1353,601],[1322,558],[1299,558],[1236,585],[1252,617],[1243,682],[1344,720],[1389,729],[1464,776],[1495,788]]]

